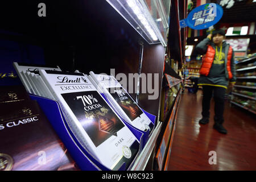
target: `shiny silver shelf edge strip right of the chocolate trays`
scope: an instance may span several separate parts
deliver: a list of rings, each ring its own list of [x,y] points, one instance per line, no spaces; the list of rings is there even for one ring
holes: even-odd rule
[[[155,147],[156,139],[160,133],[160,129],[162,127],[162,122],[158,122],[158,125],[155,127],[154,131],[152,131],[151,137],[148,139],[148,142],[144,146],[141,154],[139,154],[136,162],[134,163],[131,171],[143,171],[147,165],[147,162],[150,158],[151,152]]]

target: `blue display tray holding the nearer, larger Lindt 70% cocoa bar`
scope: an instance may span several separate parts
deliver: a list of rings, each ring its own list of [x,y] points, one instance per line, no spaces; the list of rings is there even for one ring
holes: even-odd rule
[[[100,163],[96,158],[94,158],[94,156],[90,154],[90,152],[86,150],[86,148],[81,146],[81,144],[76,139],[75,135],[73,135],[72,131],[69,129],[63,111],[61,110],[61,107],[57,101],[49,100],[48,98],[35,96],[32,94],[30,94],[30,98],[31,100],[36,100],[38,102],[41,109],[44,111],[44,114],[46,114],[53,129],[56,131],[57,135],[59,135],[65,147],[67,147],[72,158],[75,160],[76,164],[79,166],[81,170],[110,171],[108,167],[104,166],[104,164]],[[133,162],[127,168],[127,170],[129,170],[133,166],[139,153],[142,151],[142,148],[146,140],[144,140],[144,133],[138,131],[133,126],[130,126],[127,122],[125,122],[125,124],[127,124],[127,127],[129,127],[129,129],[132,131],[135,137],[140,141],[139,152],[135,156]],[[125,163],[123,163],[122,166],[118,169],[118,171],[124,171],[125,166]]]

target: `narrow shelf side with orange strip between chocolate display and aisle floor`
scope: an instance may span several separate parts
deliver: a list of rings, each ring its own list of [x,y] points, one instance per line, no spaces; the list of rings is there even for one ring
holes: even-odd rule
[[[161,108],[160,108],[160,121],[162,122],[162,129],[159,138],[156,141],[154,170],[164,170],[164,166],[168,163],[170,156],[172,140],[175,134],[175,115],[179,107],[181,98],[182,79],[177,75],[174,69],[169,64],[163,76],[163,88],[161,93]],[[168,158],[167,158],[168,156]]]

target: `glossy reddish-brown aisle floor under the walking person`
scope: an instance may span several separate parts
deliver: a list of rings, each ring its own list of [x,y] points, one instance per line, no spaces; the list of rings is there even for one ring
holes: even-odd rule
[[[238,107],[225,104],[224,127],[213,129],[213,100],[210,122],[199,125],[201,90],[181,97],[168,170],[256,170],[256,121]],[[209,151],[216,151],[217,164],[210,165]]]

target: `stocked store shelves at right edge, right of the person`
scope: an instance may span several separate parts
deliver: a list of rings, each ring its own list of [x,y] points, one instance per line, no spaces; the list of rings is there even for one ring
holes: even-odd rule
[[[238,61],[231,104],[256,114],[256,56]]]

